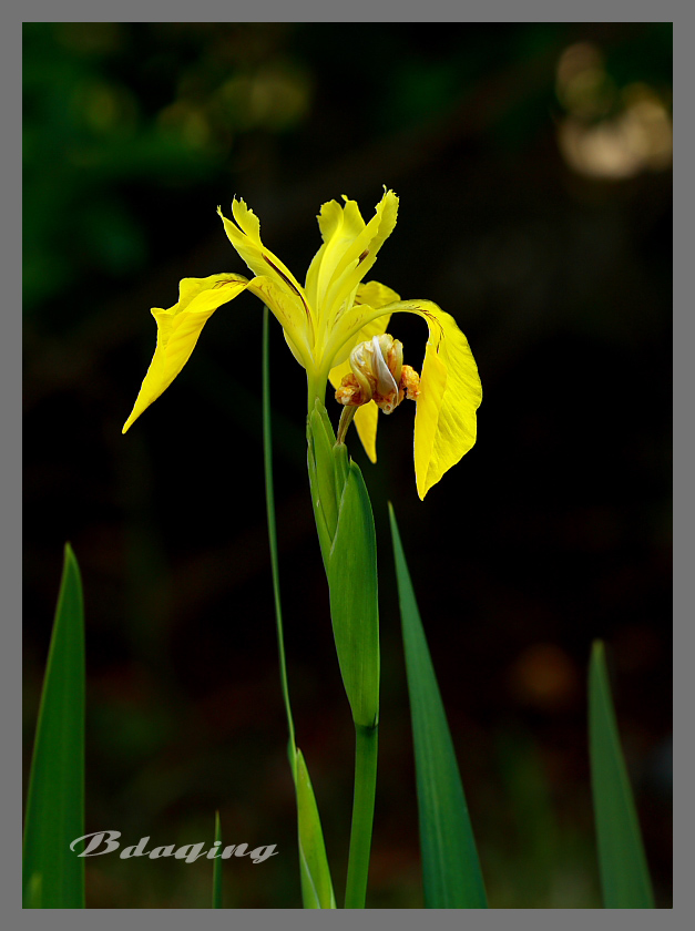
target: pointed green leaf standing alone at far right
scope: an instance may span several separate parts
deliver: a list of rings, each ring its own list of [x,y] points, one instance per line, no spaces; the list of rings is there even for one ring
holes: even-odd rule
[[[604,908],[653,909],[652,882],[601,641],[593,644],[589,667],[589,750]]]

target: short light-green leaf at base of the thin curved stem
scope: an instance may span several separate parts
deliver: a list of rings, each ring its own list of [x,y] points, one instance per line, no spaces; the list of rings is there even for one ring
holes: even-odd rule
[[[301,750],[295,755],[297,822],[299,831],[299,872],[305,909],[335,909],[336,897],[318,816],[316,798]]]

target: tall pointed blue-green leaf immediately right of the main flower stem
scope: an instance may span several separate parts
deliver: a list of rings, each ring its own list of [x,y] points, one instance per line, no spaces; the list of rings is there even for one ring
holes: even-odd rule
[[[487,909],[453,743],[390,504],[389,518],[415,740],[425,907]]]

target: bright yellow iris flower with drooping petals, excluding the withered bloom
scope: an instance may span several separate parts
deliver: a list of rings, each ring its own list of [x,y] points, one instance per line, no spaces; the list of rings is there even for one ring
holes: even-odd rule
[[[415,469],[420,498],[476,442],[476,410],[482,392],[468,340],[456,320],[430,300],[400,300],[378,282],[364,283],[377,253],[394,231],[398,197],[386,191],[365,223],[355,201],[324,204],[318,225],[324,243],[304,287],[260,241],[258,218],[244,201],[234,200],[234,223],[223,216],[232,245],[254,273],[184,278],[178,300],[154,308],[157,344],[154,357],[123,432],[172,383],[193,351],[208,317],[241,291],[249,290],[279,320],[285,339],[306,369],[309,409],[325,400],[326,382],[338,387],[350,371],[350,351],[386,332],[391,314],[422,317],[429,328],[415,418]],[[376,462],[379,408],[371,400],[357,408],[355,424],[367,454]]]

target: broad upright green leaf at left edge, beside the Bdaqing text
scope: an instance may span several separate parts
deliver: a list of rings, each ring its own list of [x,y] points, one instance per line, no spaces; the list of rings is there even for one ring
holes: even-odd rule
[[[83,909],[84,611],[80,570],[65,544],[63,574],[29,776],[23,907]]]

